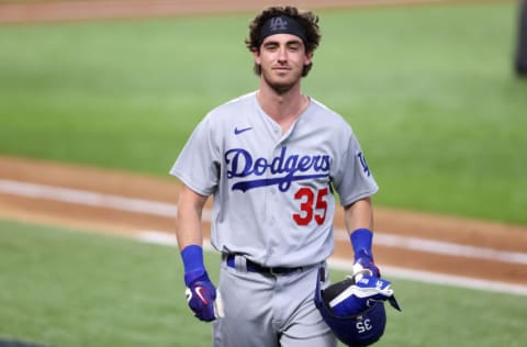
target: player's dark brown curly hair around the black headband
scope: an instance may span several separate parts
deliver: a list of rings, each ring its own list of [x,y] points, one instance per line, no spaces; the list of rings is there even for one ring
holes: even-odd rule
[[[245,40],[245,45],[250,52],[260,52],[260,31],[264,24],[271,18],[287,15],[294,19],[305,31],[305,52],[314,53],[321,42],[321,32],[318,29],[318,16],[311,11],[300,11],[295,7],[271,7],[258,14],[249,24],[249,37]],[[307,76],[313,63],[304,66],[302,77]],[[255,63],[254,71],[261,75],[260,65]]]

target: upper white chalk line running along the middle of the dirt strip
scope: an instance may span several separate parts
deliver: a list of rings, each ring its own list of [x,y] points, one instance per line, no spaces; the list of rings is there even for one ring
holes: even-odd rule
[[[136,212],[159,216],[173,217],[177,206],[172,203],[145,199],[126,198],[93,191],[53,187],[0,179],[0,193],[14,194],[33,199],[47,199],[81,205],[105,208],[125,212]],[[211,211],[203,211],[203,220],[211,221]],[[347,239],[346,232],[335,231],[337,239]],[[430,254],[458,256],[475,259],[486,259],[509,264],[527,265],[527,254],[504,251],[492,248],[474,247],[455,243],[430,240],[418,237],[397,236],[375,232],[375,245],[417,250]]]

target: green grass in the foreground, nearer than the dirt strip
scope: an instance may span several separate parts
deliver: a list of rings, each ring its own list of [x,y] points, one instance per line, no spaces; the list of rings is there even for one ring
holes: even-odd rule
[[[217,255],[206,254],[212,278]],[[172,247],[0,222],[0,337],[66,346],[211,346]],[[343,272],[333,273],[335,280]],[[523,296],[394,280],[403,312],[375,345],[520,347]]]

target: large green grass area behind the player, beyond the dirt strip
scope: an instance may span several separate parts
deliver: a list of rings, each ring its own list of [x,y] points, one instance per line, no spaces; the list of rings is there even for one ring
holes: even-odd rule
[[[251,15],[0,26],[0,153],[166,176],[211,108],[257,88]],[[527,223],[514,2],[321,13],[305,91],[352,124],[375,203]]]

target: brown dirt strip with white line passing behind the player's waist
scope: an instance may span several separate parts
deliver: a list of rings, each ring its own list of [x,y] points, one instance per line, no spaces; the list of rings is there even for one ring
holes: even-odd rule
[[[130,235],[173,234],[179,189],[169,177],[0,156],[0,216],[9,219]],[[154,208],[115,206],[125,199]],[[527,286],[527,227],[380,208],[374,213],[374,253],[384,267]],[[341,213],[336,227],[344,228]],[[335,258],[350,260],[349,240],[338,232]]]

